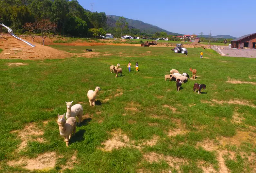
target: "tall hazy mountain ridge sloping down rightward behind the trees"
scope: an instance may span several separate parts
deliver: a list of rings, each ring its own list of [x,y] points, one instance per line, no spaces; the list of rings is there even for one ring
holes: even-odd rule
[[[120,16],[107,15],[107,25],[109,27],[116,26],[116,21],[119,19],[119,17]],[[158,26],[144,23],[139,20],[133,20],[133,19],[128,19],[128,18],[125,18],[125,19],[126,19],[126,22],[128,22],[129,27],[140,29],[141,32],[145,32],[147,34],[154,34],[156,32],[166,32],[168,35],[183,35],[183,34],[179,34],[179,33],[175,33],[175,32],[166,31],[162,28],[159,28]]]

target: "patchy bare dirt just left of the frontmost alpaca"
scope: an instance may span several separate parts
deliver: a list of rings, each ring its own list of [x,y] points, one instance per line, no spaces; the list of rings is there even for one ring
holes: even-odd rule
[[[38,141],[44,142],[43,138],[38,138],[39,136],[43,135],[43,131],[38,129],[35,123],[30,123],[24,127],[22,130],[15,130],[11,133],[17,133],[18,137],[21,139],[21,144],[18,147],[18,150],[23,150],[26,148],[28,141]]]

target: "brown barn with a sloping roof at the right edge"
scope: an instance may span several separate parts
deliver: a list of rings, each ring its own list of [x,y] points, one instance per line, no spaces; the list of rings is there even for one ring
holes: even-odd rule
[[[244,35],[232,40],[231,46],[236,49],[256,49],[256,33]]]

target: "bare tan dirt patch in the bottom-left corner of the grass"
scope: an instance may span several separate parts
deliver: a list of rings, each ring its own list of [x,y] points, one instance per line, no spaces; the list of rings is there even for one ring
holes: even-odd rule
[[[34,170],[34,169],[53,169],[56,163],[56,153],[47,152],[39,154],[37,158],[21,158],[18,161],[12,160],[7,162],[9,166],[12,167],[23,167],[25,169]],[[25,165],[25,166],[24,166]]]

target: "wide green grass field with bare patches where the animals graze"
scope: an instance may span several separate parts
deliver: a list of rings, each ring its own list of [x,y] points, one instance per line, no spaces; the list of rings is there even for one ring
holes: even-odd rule
[[[188,48],[185,56],[162,47],[51,47],[81,57],[0,60],[0,172],[28,172],[44,153],[55,156],[52,169],[32,172],[256,170],[256,59],[201,48]],[[117,63],[123,76],[115,78],[109,66]],[[179,92],[164,80],[171,69],[192,76],[190,67],[198,77]],[[206,84],[201,95],[193,92],[195,82]],[[90,107],[87,91],[97,86],[97,105]],[[65,101],[84,109],[69,148],[57,125]],[[31,161],[14,164],[24,158]]]

